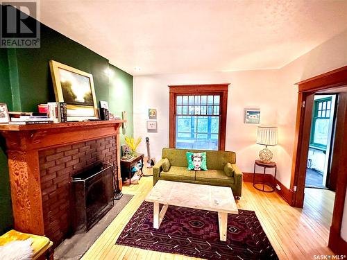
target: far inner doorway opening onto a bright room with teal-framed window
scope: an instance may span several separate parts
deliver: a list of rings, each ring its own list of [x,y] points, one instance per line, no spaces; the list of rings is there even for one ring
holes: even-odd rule
[[[315,94],[305,177],[306,188],[330,189],[337,94]]]

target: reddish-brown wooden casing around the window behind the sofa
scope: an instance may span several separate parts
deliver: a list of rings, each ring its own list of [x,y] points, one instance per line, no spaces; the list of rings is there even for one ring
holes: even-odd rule
[[[176,96],[219,95],[218,150],[226,149],[226,116],[230,83],[209,85],[169,85],[169,147],[176,147]]]

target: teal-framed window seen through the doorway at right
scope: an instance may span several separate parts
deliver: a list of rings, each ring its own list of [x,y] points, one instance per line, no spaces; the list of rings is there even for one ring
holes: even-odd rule
[[[321,98],[314,101],[310,145],[326,150],[328,145],[330,113],[332,98]]]

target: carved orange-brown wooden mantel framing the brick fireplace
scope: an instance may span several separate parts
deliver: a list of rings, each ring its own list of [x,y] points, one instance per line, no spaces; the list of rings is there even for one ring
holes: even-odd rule
[[[120,177],[119,128],[123,120],[35,125],[0,124],[6,139],[14,227],[44,235],[39,151],[116,136],[117,175]],[[118,179],[119,182],[119,179]]]

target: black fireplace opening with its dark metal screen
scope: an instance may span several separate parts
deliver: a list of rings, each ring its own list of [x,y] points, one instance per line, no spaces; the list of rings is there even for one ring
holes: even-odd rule
[[[87,232],[113,207],[115,191],[111,164],[99,164],[72,177],[74,233]]]

